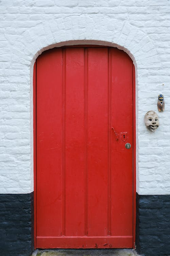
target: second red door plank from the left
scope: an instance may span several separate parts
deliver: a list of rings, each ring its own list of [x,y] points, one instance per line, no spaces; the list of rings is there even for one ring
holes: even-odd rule
[[[84,49],[65,53],[66,236],[84,235]]]

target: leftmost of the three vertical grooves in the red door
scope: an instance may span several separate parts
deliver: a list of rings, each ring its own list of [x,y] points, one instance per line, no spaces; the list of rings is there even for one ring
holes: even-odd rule
[[[62,234],[63,236],[65,236],[65,232],[66,232],[66,220],[65,220],[65,212],[66,212],[66,195],[65,195],[65,120],[66,120],[66,51],[65,49],[63,49],[63,100],[62,100],[62,109],[63,109],[63,113],[62,113],[62,132],[63,132],[63,136],[62,136],[62,179],[63,179],[63,189],[62,189],[62,223],[63,223],[63,227],[62,227]]]

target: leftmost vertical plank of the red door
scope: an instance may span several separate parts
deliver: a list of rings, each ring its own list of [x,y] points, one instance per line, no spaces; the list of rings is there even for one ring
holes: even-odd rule
[[[62,233],[62,58],[37,59],[37,236]]]

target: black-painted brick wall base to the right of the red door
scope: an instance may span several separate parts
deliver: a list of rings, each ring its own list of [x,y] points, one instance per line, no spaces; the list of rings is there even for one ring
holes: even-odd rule
[[[170,255],[170,195],[136,195],[136,250]]]

